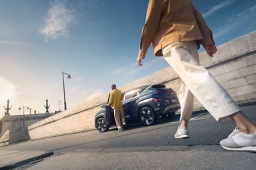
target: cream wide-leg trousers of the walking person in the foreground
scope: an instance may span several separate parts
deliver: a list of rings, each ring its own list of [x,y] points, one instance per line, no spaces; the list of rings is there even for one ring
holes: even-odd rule
[[[215,120],[241,111],[227,91],[200,66],[195,41],[172,43],[163,49],[164,59],[180,77],[180,120],[189,120],[194,96]]]

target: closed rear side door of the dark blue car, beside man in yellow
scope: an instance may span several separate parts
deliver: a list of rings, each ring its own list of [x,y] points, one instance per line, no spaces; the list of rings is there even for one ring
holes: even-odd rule
[[[123,106],[126,118],[136,117],[137,114],[135,112],[135,106],[138,96],[139,93],[137,90],[130,90],[125,92]]]

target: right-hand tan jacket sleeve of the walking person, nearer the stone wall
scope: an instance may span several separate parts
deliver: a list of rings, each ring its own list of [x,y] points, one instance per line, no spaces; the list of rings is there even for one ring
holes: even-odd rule
[[[214,39],[212,37],[212,31],[207,26],[204,20],[204,17],[201,15],[201,13],[198,10],[196,10],[194,6],[193,6],[193,12],[194,12],[198,27],[202,33],[202,36],[204,37],[203,39],[199,40],[199,44],[202,43],[203,46],[215,45]]]

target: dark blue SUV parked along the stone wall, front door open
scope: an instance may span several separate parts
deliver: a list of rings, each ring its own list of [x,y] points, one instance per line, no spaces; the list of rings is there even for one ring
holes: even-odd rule
[[[143,125],[153,125],[158,117],[172,118],[175,111],[180,109],[176,92],[164,85],[138,87],[124,92],[123,96],[127,124],[140,121]],[[115,117],[106,104],[101,108],[95,115],[95,127],[99,132],[106,132],[109,127],[116,125]]]

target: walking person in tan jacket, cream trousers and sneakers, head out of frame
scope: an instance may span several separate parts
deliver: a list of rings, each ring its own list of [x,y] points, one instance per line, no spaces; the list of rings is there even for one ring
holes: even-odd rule
[[[137,62],[145,59],[150,44],[180,76],[180,126],[175,138],[189,138],[188,121],[194,96],[217,121],[231,118],[236,129],[220,145],[227,150],[256,151],[256,127],[214,77],[200,66],[198,47],[209,56],[217,52],[212,32],[191,0],[149,0]],[[214,129],[212,129],[214,131]]]

